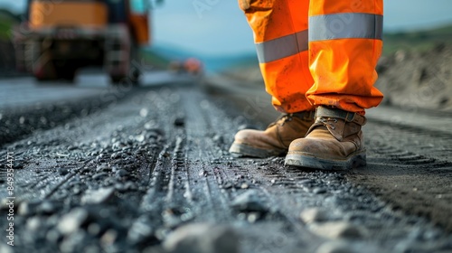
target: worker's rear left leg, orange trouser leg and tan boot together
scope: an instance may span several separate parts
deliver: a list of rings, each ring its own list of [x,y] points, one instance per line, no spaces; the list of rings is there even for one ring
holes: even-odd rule
[[[266,157],[287,152],[306,135],[314,109],[306,99],[313,80],[308,69],[308,0],[239,0],[254,32],[259,66],[275,108],[287,115],[265,131],[245,129],[235,136],[230,152]]]

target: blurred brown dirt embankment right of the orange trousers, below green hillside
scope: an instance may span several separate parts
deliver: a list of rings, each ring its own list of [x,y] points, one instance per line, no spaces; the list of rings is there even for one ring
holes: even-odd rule
[[[399,51],[381,57],[376,87],[383,103],[401,108],[452,111],[452,47],[429,52]]]

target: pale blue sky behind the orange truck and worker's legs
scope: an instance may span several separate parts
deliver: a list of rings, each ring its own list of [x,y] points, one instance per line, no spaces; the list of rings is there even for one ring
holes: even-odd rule
[[[59,1],[59,0],[54,0]],[[18,11],[25,0],[0,0]],[[386,0],[384,30],[412,31],[452,23],[451,0]],[[165,0],[152,12],[153,42],[197,54],[254,51],[252,32],[237,0]]]

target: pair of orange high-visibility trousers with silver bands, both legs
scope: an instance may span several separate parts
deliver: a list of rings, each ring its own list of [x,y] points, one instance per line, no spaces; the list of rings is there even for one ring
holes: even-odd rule
[[[364,113],[381,55],[382,0],[239,0],[259,67],[279,111],[319,105]]]

